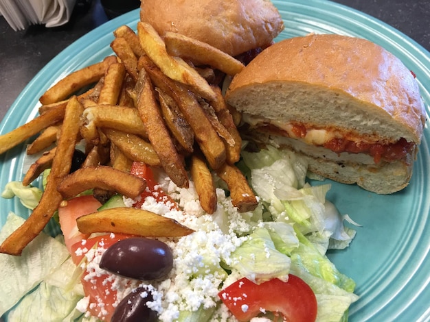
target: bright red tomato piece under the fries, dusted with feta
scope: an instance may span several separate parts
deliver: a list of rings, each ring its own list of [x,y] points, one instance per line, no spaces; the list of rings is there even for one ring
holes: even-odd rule
[[[179,210],[178,203],[164,192],[157,181],[155,181],[154,173],[148,164],[135,161],[131,165],[130,173],[136,177],[141,177],[146,181],[146,189],[140,195],[139,200],[133,203],[133,207],[141,208],[147,197],[153,197],[157,202],[166,203],[170,210]]]

